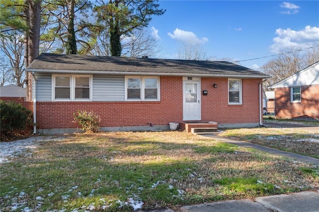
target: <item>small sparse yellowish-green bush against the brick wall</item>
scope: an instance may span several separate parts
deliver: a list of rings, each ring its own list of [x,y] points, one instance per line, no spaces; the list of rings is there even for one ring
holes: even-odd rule
[[[93,112],[78,111],[73,113],[74,120],[78,122],[84,132],[99,132],[100,131],[100,117]]]

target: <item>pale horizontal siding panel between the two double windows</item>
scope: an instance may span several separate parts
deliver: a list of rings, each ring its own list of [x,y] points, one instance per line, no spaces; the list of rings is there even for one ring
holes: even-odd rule
[[[93,101],[125,101],[124,76],[93,76]]]

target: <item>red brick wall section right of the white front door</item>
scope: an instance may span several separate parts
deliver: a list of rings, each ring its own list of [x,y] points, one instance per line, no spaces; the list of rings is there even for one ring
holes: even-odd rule
[[[259,123],[259,83],[260,79],[242,80],[242,105],[228,105],[228,79],[202,78],[201,89],[207,96],[201,96],[203,121],[217,123]],[[212,85],[217,84],[217,88]]]

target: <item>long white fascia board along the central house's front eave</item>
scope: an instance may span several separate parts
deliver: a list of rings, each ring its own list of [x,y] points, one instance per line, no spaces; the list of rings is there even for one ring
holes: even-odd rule
[[[129,71],[81,71],[81,70],[47,70],[47,69],[25,69],[26,72],[55,73],[55,74],[96,74],[96,75],[130,75],[130,76],[191,76],[191,77],[216,77],[216,78],[238,78],[238,79],[264,79],[269,75],[228,75],[228,74],[194,74],[194,73],[156,73],[156,72],[129,72]]]

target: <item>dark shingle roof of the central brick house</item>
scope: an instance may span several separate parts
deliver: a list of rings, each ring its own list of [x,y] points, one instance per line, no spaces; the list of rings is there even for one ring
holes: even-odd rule
[[[123,75],[171,75],[212,77],[269,77],[264,73],[224,61],[171,60],[153,58],[105,57],[87,55],[40,54],[28,72],[94,73]]]

